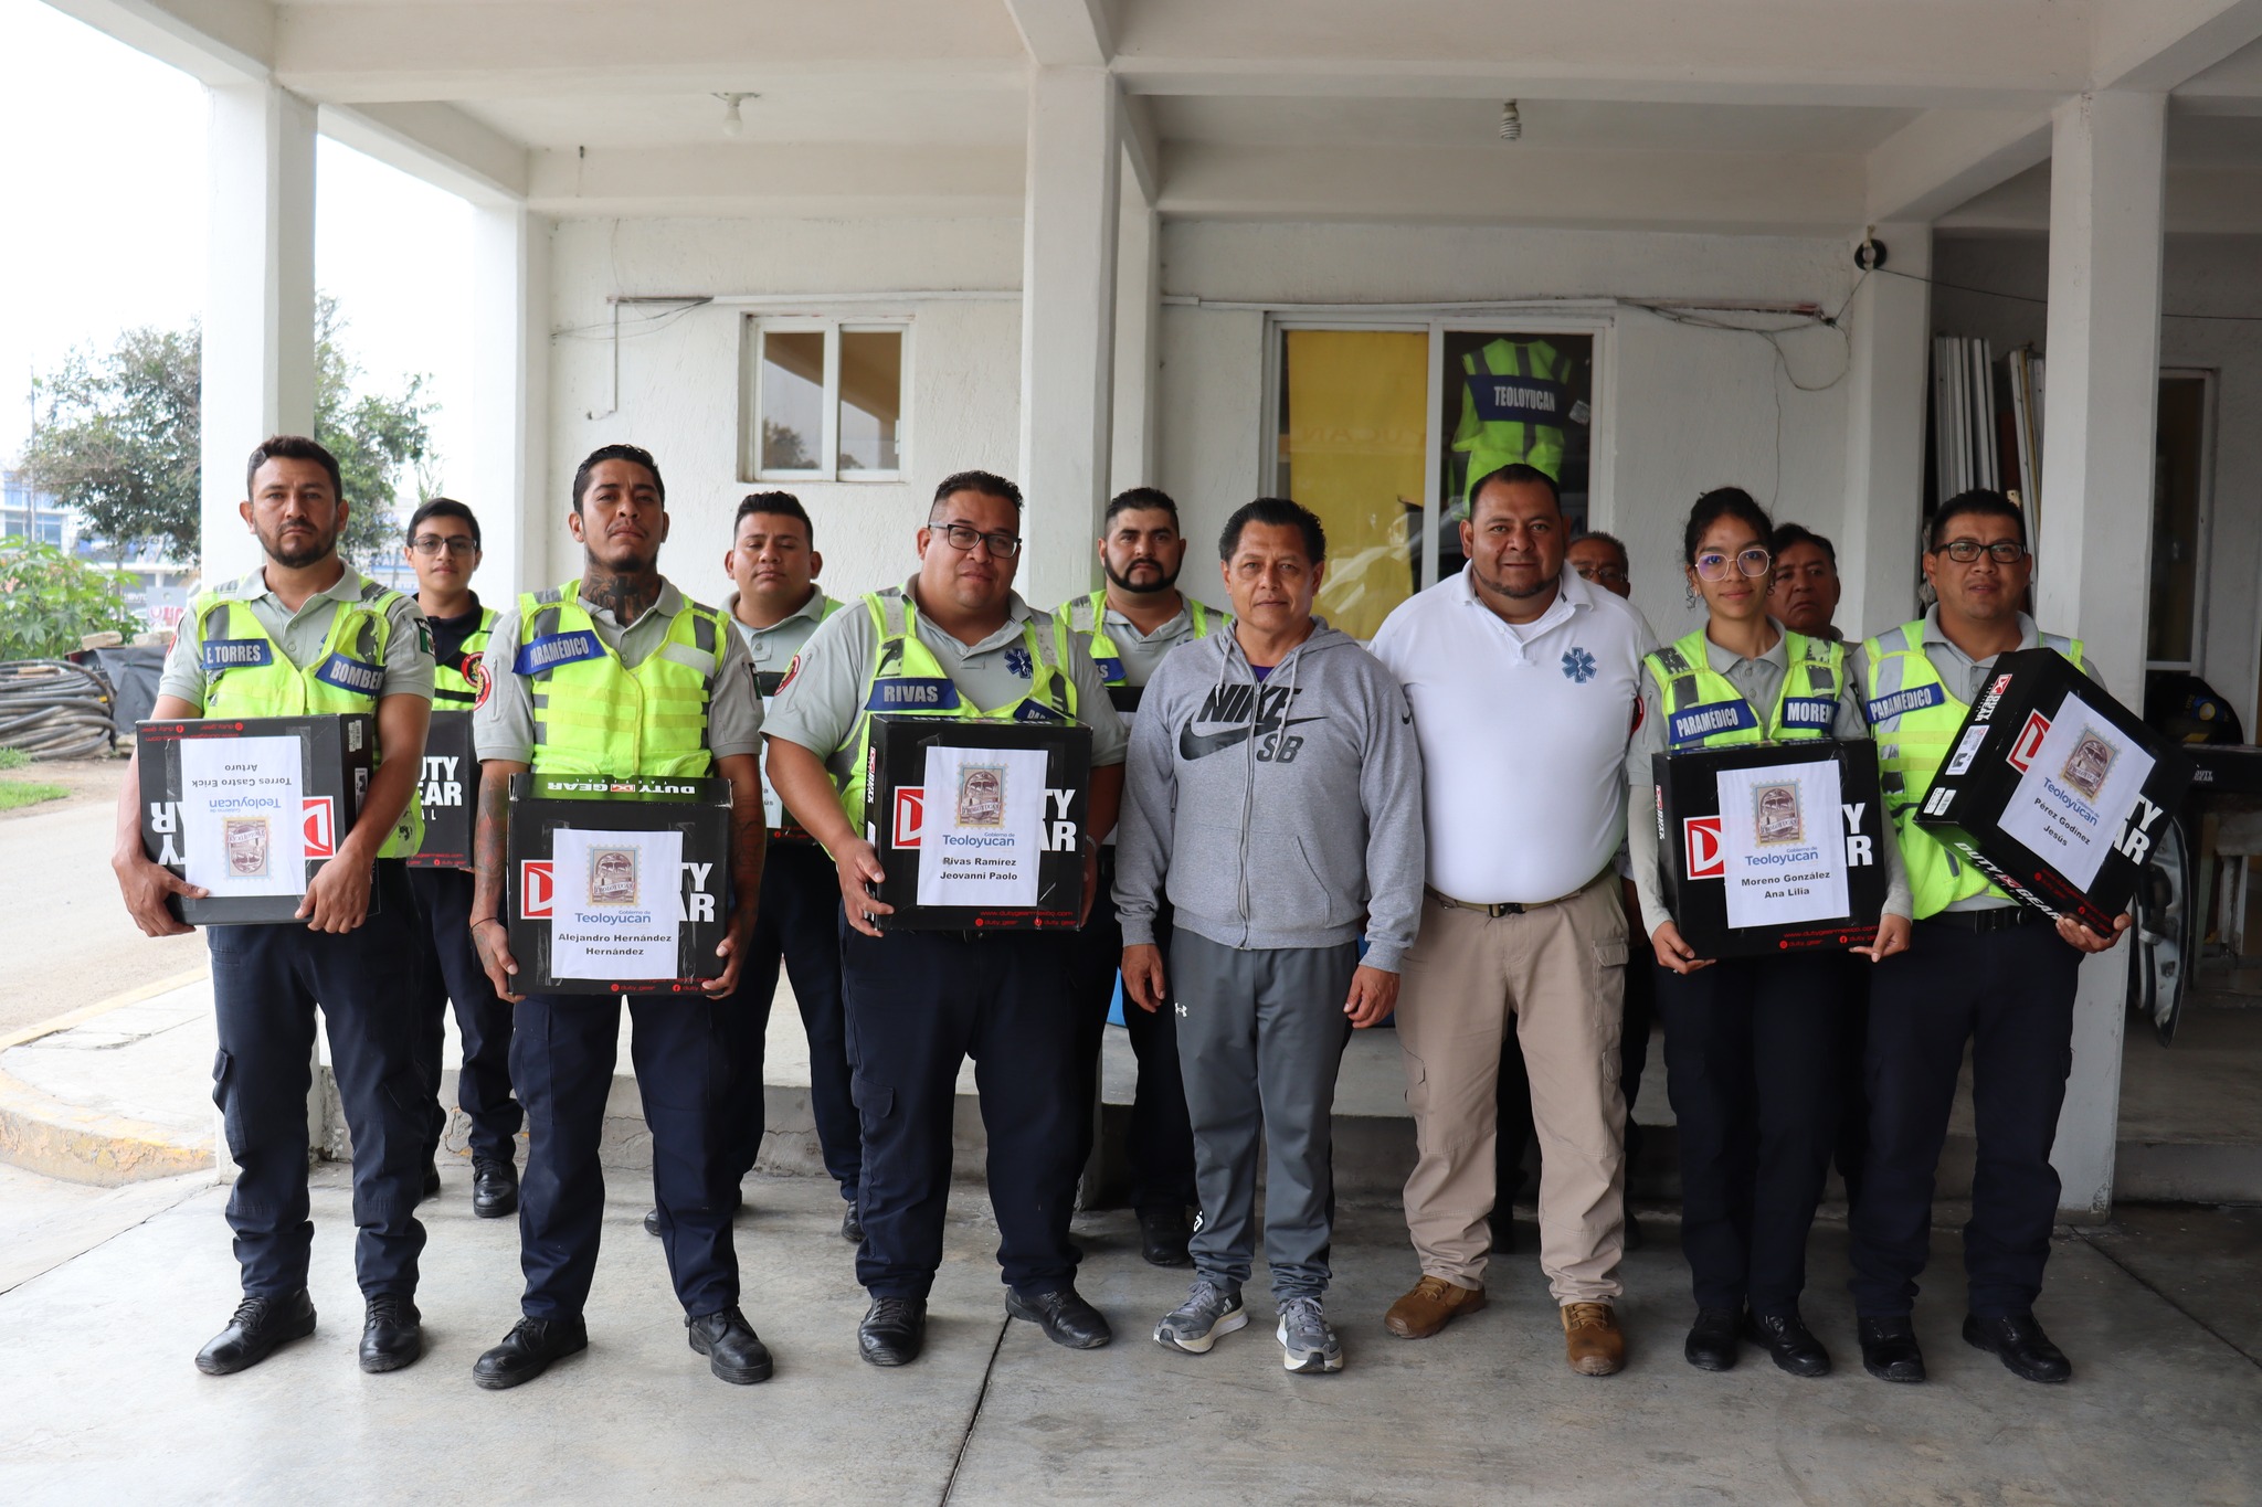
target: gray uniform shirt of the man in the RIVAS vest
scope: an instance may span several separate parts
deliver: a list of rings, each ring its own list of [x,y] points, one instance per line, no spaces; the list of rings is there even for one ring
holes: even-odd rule
[[[916,601],[914,583],[916,578],[907,581],[903,592]],[[1022,628],[1029,621],[1036,624],[1036,633],[1052,633],[1052,617],[1031,612],[1020,592],[1013,592],[1007,596],[1004,626],[979,644],[961,644],[936,628],[925,612],[918,615],[918,642],[959,687],[959,696],[993,712],[1027,696],[1036,678],[1036,664],[1022,644]],[[871,621],[871,610],[862,601],[851,601],[801,646],[801,669],[778,689],[765,732],[801,743],[826,761],[835,782],[846,782],[864,718],[864,682],[878,653],[880,630]],[[1129,739],[1115,705],[1108,703],[1108,682],[1099,678],[1099,667],[1072,633],[1063,669],[1077,685],[1077,721],[1093,730],[1093,768],[1122,764]]]

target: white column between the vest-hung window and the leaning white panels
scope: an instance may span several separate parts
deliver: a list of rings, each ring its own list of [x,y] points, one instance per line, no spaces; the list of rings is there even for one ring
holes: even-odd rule
[[[1884,633],[1916,612],[1916,549],[1925,513],[1925,357],[1932,346],[1932,226],[1877,226],[1887,267],[1855,289],[1846,312],[1846,522],[1837,538],[1848,639]]]

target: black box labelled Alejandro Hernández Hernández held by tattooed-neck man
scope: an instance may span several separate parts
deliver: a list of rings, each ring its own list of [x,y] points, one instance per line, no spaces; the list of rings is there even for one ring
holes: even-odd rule
[[[511,775],[518,990],[692,994],[722,974],[728,779]]]

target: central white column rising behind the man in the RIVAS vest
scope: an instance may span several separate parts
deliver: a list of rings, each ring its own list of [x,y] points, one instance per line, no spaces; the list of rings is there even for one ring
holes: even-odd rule
[[[1122,97],[1106,68],[1029,77],[1020,258],[1020,592],[1050,608],[1090,590],[1115,386]]]

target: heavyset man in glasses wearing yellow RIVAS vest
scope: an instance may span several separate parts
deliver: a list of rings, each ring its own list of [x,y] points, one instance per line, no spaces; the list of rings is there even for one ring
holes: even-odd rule
[[[988,1132],[988,1191],[1009,1315],[1070,1349],[1113,1335],[1077,1295],[1068,1218],[1090,1134],[1079,1062],[1074,935],[1065,931],[893,931],[864,888],[882,879],[864,840],[871,712],[1079,721],[1093,730],[1083,886],[1122,800],[1124,730],[1090,653],[1013,590],[1020,488],[966,470],[934,488],[918,574],[826,619],[778,687],[762,732],[769,782],[832,854],[841,906],[841,996],[864,1123],[857,1281],[871,1308],[857,1349],[871,1365],[918,1358],[927,1290],[943,1263],[950,1123],[973,1057]]]

